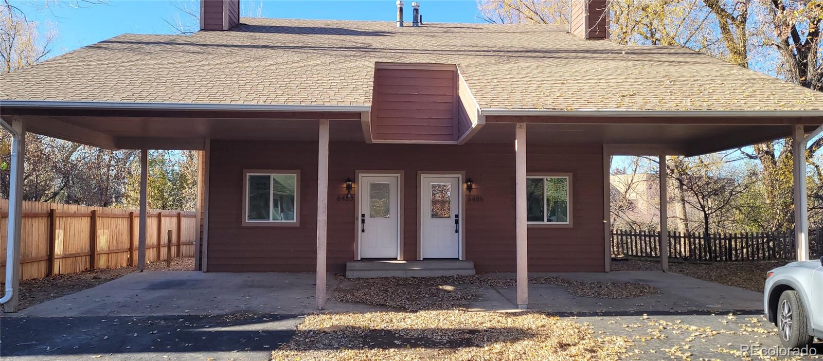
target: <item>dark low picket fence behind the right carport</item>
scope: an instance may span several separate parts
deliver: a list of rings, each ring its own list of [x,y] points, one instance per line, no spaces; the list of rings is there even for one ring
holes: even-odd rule
[[[613,257],[660,257],[660,231],[611,231]],[[695,261],[765,261],[796,257],[794,231],[704,234],[668,232],[669,257]],[[809,230],[811,257],[823,256],[823,229]]]

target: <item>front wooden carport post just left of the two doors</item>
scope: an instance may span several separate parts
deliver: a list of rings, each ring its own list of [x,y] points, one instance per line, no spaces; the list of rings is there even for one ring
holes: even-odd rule
[[[328,220],[328,120],[320,119],[317,155],[317,308],[326,305],[326,221]]]

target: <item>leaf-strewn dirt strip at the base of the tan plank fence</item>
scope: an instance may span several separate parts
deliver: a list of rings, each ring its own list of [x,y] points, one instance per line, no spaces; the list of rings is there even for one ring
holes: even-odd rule
[[[83,289],[91,289],[96,285],[118,279],[134,271],[137,271],[136,267],[120,267],[68,275],[52,275],[34,280],[21,280],[18,310],[51,299],[58,299],[67,294],[80,292]],[[166,268],[165,261],[151,262],[146,265],[146,271],[194,271],[194,257],[174,258],[171,261],[171,268]],[[0,287],[4,286],[3,283],[0,283]]]

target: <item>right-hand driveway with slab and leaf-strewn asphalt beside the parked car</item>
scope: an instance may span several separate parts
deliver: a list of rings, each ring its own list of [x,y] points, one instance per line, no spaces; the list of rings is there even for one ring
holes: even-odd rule
[[[659,271],[532,275],[586,282],[639,282],[656,287],[659,294],[635,299],[591,299],[569,294],[559,285],[529,285],[529,308],[573,317],[576,322],[592,326],[597,336],[633,340],[635,346],[626,359],[732,360],[742,359],[742,347],[766,348],[762,351],[768,355],[769,348],[779,345],[776,327],[762,316],[762,294],[750,290]],[[470,307],[516,308],[516,289],[485,289]],[[816,354],[823,354],[823,343],[814,347]]]

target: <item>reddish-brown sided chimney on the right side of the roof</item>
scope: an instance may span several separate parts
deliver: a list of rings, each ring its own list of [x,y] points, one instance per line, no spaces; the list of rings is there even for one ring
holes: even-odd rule
[[[609,39],[607,0],[570,0],[569,32],[583,39]]]

